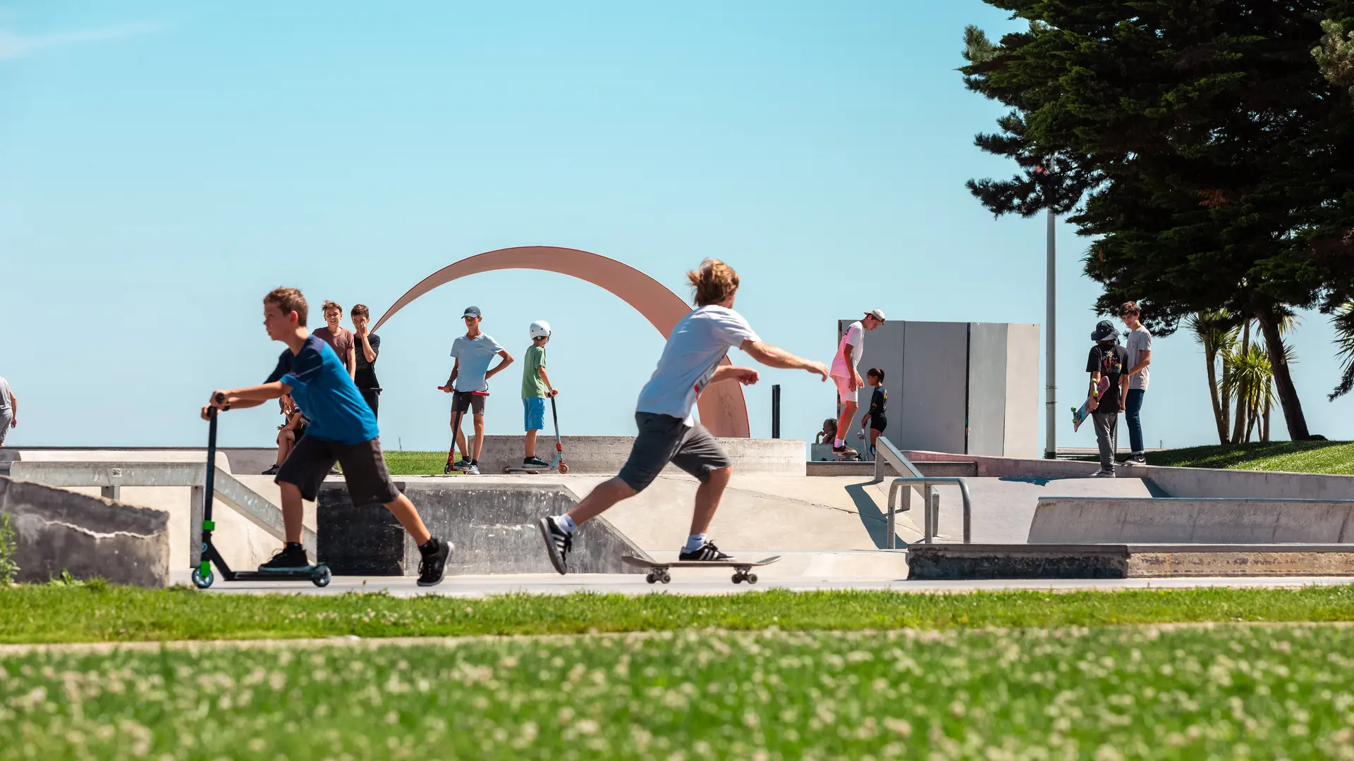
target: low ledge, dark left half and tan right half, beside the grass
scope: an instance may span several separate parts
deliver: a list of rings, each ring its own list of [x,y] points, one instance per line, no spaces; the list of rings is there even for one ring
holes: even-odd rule
[[[907,578],[1350,574],[1350,544],[913,544]]]

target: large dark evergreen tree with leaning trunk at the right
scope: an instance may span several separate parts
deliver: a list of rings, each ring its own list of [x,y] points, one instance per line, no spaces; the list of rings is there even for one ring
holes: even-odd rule
[[[978,146],[1021,173],[969,190],[997,215],[1070,211],[1101,313],[1137,301],[1158,334],[1213,309],[1255,317],[1305,437],[1278,324],[1354,284],[1335,234],[1354,210],[1350,93],[1312,54],[1349,3],[986,1],[1029,22],[999,43],[969,28],[961,69],[1010,107]]]

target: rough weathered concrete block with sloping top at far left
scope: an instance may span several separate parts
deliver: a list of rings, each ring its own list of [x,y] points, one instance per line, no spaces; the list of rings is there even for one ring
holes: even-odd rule
[[[169,582],[168,513],[8,477],[0,477],[0,512],[19,535],[18,581],[65,570],[138,586]]]

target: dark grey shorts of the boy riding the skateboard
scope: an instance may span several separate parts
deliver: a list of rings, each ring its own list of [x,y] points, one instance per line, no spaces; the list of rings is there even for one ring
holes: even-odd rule
[[[695,475],[701,483],[709,479],[709,471],[728,467],[728,455],[719,441],[699,422],[688,427],[681,418],[670,414],[636,412],[639,436],[630,450],[630,459],[620,469],[620,479],[635,492],[658,478],[663,466],[674,466]]]

